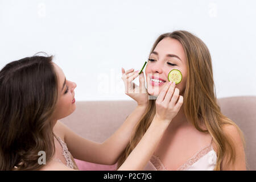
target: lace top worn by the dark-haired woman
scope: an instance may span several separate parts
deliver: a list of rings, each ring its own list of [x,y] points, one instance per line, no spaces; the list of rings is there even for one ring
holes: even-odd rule
[[[64,155],[64,158],[66,160],[66,164],[64,164],[64,165],[69,167],[69,168],[72,168],[72,169],[78,169],[75,160],[73,159],[71,153],[68,151],[67,144],[65,142],[63,142],[63,140],[61,140],[56,135],[55,135],[55,138],[59,141],[59,143],[60,143],[60,145],[61,145],[61,147],[63,149],[63,155]],[[56,160],[56,161],[58,161],[58,162],[63,164],[63,162],[61,162],[60,159],[53,159],[53,160]]]

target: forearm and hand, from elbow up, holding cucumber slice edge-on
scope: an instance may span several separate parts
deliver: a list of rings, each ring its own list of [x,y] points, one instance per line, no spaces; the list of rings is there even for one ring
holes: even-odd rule
[[[139,86],[133,82],[137,77],[139,77]],[[110,164],[117,163],[119,156],[129,144],[134,126],[140,121],[148,105],[148,93],[143,72],[139,74],[139,71],[134,72],[134,69],[125,71],[125,69],[122,68],[122,80],[125,84],[125,94],[133,98],[138,105],[126,118],[123,125],[102,143],[101,150],[108,156]]]

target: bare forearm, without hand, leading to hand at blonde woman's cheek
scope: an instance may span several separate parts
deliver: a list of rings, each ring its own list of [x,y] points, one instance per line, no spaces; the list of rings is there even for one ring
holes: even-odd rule
[[[158,146],[167,127],[168,122],[161,122],[154,118],[141,141],[137,144],[118,170],[143,170]]]

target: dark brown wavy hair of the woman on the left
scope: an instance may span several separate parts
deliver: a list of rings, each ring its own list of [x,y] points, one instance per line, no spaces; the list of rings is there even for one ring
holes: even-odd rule
[[[52,56],[13,61],[0,71],[0,170],[37,170],[39,151],[55,153],[51,117],[57,102]]]

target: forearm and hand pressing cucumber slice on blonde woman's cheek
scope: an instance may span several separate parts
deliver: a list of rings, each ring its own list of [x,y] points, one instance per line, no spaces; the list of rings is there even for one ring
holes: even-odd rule
[[[182,104],[183,97],[179,96],[179,89],[175,89],[174,84],[168,83],[156,99],[156,114],[151,125],[118,170],[144,169],[163,137],[164,131],[166,131]]]

